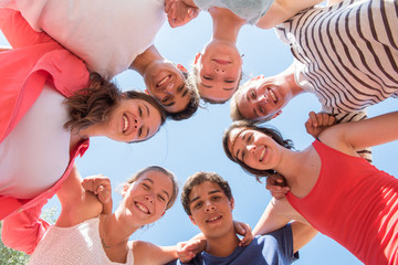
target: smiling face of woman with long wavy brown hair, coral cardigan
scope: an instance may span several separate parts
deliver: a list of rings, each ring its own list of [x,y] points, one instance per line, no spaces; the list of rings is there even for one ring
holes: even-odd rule
[[[109,113],[105,136],[116,141],[143,141],[159,130],[160,123],[159,110],[148,102],[124,98]]]

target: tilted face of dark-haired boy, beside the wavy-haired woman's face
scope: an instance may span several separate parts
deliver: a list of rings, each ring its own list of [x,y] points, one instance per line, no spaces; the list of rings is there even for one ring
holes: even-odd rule
[[[182,70],[181,67],[181,71]],[[167,61],[153,62],[144,74],[147,93],[169,113],[184,110],[190,94],[186,87],[186,77],[172,63]]]

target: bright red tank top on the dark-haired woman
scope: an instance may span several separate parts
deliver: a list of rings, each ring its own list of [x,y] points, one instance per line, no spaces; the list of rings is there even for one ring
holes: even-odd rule
[[[287,200],[365,264],[398,264],[398,180],[363,158],[314,141],[322,168],[312,191]]]

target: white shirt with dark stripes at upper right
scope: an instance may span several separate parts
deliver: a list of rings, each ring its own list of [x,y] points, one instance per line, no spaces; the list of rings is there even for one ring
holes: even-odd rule
[[[318,97],[323,112],[344,115],[398,95],[396,0],[306,9],[276,34],[291,46],[296,83]]]

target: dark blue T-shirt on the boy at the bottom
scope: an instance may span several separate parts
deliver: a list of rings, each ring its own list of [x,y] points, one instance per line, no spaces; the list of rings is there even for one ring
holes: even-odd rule
[[[282,265],[291,264],[297,258],[298,253],[293,253],[292,227],[287,224],[272,233],[255,236],[250,245],[238,246],[227,257],[217,257],[202,252],[190,263],[176,259],[167,265]]]

